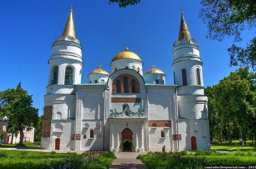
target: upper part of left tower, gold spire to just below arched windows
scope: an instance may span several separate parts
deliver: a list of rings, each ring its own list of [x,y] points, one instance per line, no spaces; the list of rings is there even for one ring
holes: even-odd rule
[[[73,88],[74,84],[81,83],[82,47],[80,41],[75,38],[72,12],[71,9],[62,35],[52,46],[52,55],[48,61],[47,89],[50,89],[47,94],[58,92],[60,88]]]

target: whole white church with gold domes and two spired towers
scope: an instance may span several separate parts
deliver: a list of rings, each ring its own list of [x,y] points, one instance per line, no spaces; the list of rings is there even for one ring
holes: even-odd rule
[[[202,61],[183,17],[173,45],[174,84],[126,48],[81,84],[82,47],[75,37],[72,10],[48,61],[41,149],[196,150],[210,149],[208,99]]]

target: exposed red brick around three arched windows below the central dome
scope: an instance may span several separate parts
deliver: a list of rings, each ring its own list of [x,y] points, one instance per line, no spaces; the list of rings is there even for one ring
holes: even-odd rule
[[[135,93],[140,93],[140,83],[133,75],[122,74],[115,78],[112,84],[112,93],[116,93],[116,81],[120,81],[120,93],[124,93],[124,78],[128,79],[128,93],[132,93],[132,81],[135,81]]]

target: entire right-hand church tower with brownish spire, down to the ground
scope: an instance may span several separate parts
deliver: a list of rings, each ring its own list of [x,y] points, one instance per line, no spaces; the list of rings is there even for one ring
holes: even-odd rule
[[[180,148],[209,150],[208,99],[204,96],[202,61],[199,47],[190,36],[183,13],[173,56],[174,83],[178,85],[177,114],[179,129],[182,129],[180,134],[186,136],[187,143],[191,141],[190,145],[181,141]]]

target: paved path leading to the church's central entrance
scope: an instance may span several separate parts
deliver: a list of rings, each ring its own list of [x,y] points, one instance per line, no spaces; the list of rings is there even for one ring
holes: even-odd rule
[[[141,163],[141,160],[136,159],[139,154],[147,153],[115,152],[117,159],[112,163],[110,169],[146,169],[145,165]]]

